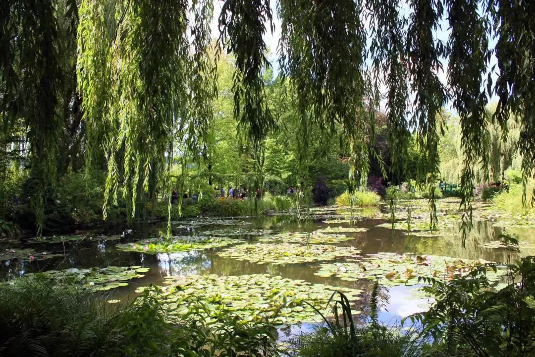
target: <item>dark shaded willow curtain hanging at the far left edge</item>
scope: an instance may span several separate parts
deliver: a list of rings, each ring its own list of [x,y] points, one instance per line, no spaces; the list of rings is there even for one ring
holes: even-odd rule
[[[50,0],[6,0],[0,5],[0,111],[11,131],[24,119],[29,142],[40,234],[47,192],[55,184],[63,116],[58,112],[68,70],[62,66],[62,39]]]

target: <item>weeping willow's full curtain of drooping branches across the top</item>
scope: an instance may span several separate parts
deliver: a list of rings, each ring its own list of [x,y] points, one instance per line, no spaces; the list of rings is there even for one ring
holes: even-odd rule
[[[74,5],[75,2],[72,2]],[[0,5],[2,120],[25,118],[35,167],[54,176],[58,95],[64,85],[57,41],[57,1],[5,0]],[[87,167],[104,155],[106,203],[120,187],[131,202],[169,181],[174,153],[198,159],[209,142],[214,73],[208,60],[209,0],[81,0],[78,9],[78,90],[87,127]],[[219,45],[235,57],[234,116],[250,141],[258,182],[263,142],[274,128],[262,75],[271,64],[263,36],[273,31],[269,0],[226,0]],[[439,177],[438,114],[452,103],[460,117],[464,232],[471,227],[476,168],[490,164],[485,108],[500,140],[518,123],[524,185],[535,173],[535,3],[524,0],[313,0],[277,2],[281,75],[295,88],[298,157],[306,172],[311,140],[342,128],[350,180],[363,180],[373,143],[375,112],[385,111],[392,174],[407,171],[407,147],[417,135],[421,158],[411,173],[430,189]],[[436,36],[447,21],[449,38]],[[490,46],[491,39],[495,46]],[[492,57],[496,80],[488,73]],[[447,63],[448,80],[438,77]],[[491,71],[492,72],[492,71]],[[20,104],[20,105],[19,105]],[[22,105],[24,104],[24,105]],[[24,109],[23,109],[24,108]],[[322,133],[312,138],[311,133]],[[178,151],[177,151],[178,150]],[[386,172],[385,172],[386,173]],[[408,177],[408,172],[402,172]],[[42,187],[39,191],[41,192]],[[526,200],[526,198],[524,198]],[[37,205],[39,206],[39,205]],[[434,209],[433,209],[434,211]],[[435,222],[431,216],[431,224]]]

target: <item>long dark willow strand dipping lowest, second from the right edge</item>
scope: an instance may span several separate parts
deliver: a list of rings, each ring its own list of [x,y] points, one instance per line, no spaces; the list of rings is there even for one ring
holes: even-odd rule
[[[453,105],[459,113],[464,150],[464,166],[461,174],[462,239],[467,237],[472,226],[474,167],[480,162],[487,171],[488,162],[483,75],[490,53],[487,50],[488,24],[478,14],[477,0],[448,1],[449,25],[452,33],[449,39],[450,60],[448,67],[449,85],[452,88]]]

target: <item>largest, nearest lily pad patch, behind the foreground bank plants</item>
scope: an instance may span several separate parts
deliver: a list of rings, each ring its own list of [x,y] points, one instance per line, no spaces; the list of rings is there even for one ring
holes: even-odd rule
[[[158,287],[161,293],[156,298],[172,315],[185,315],[195,302],[202,301],[214,316],[219,310],[230,310],[243,321],[269,317],[278,324],[319,322],[321,317],[314,308],[323,310],[334,291],[342,291],[349,301],[359,300],[358,295],[362,293],[361,290],[311,284],[269,274],[190,275],[165,279],[166,285]]]

